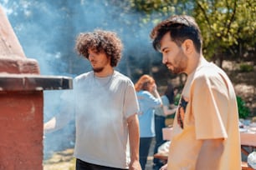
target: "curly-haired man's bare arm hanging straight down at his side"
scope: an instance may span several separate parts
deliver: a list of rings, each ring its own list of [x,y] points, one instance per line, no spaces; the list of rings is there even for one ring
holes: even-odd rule
[[[137,114],[128,117],[129,141],[131,152],[130,170],[141,170],[139,162],[140,130]]]

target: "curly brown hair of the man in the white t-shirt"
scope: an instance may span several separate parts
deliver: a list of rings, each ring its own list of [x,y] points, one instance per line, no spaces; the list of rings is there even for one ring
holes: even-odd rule
[[[87,59],[89,49],[104,52],[110,57],[110,65],[115,67],[120,62],[123,44],[115,32],[96,29],[94,32],[79,33],[74,48],[79,55]]]

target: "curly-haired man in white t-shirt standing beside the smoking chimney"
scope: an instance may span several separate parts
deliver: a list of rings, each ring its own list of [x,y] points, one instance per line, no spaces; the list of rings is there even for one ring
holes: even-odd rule
[[[74,90],[64,94],[69,100],[61,114],[44,123],[47,133],[75,118],[76,170],[141,169],[135,87],[114,69],[122,48],[115,32],[80,33],[75,49],[89,60],[92,71],[74,78]]]

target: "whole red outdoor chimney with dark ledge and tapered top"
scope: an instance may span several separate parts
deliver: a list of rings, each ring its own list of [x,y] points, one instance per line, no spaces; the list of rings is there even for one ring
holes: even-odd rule
[[[44,90],[72,88],[72,78],[39,75],[1,6],[0,21],[0,170],[40,170]]]

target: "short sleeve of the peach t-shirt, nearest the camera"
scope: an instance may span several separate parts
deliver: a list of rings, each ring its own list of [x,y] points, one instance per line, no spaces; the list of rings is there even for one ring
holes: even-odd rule
[[[219,90],[222,83],[215,77],[198,77],[192,84],[192,113],[197,139],[228,138],[224,117],[227,97]]]

